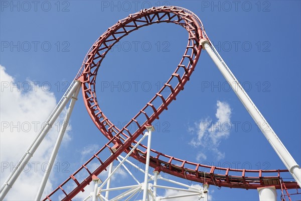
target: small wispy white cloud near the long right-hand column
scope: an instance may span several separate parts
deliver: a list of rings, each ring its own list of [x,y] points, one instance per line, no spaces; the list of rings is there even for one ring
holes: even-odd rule
[[[221,160],[225,157],[225,153],[219,151],[218,147],[221,141],[230,135],[231,108],[229,104],[219,100],[216,106],[216,122],[213,122],[212,119],[208,117],[196,124],[196,129],[189,129],[192,132],[197,131],[197,137],[193,137],[190,141],[190,145],[194,147],[201,146],[203,148],[202,152],[197,153],[196,159],[198,161],[207,159],[204,152],[208,150],[215,154],[217,160]]]

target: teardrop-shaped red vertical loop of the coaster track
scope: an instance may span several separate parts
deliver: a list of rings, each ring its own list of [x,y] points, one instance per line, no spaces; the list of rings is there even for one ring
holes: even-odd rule
[[[102,113],[98,106],[95,81],[99,66],[104,59],[106,53],[116,44],[121,38],[128,35],[132,31],[135,31],[141,27],[157,24],[157,23],[175,23],[184,27],[189,32],[189,40],[186,51],[182,57],[181,62],[177,66],[175,72],[167,83],[161,88],[161,90],[142,108],[138,114],[121,130],[115,127]],[[97,128],[109,139],[113,138],[113,135],[126,132],[127,135],[131,135],[128,131],[128,127],[131,123],[135,122],[140,128],[135,119],[138,116],[143,116],[145,122],[151,124],[153,119],[158,118],[162,110],[166,109],[170,102],[176,98],[176,95],[183,89],[184,84],[191,73],[193,72],[195,65],[201,53],[200,40],[203,38],[202,25],[191,16],[191,14],[185,13],[183,10],[179,10],[176,7],[161,7],[152,8],[140,11],[136,14],[132,14],[127,18],[118,21],[114,26],[110,27],[99,39],[93,44],[88,52],[83,66],[77,75],[77,79],[83,82],[83,96],[88,113],[97,126]],[[184,73],[180,72],[184,69]],[[172,80],[177,80],[178,84],[173,86]],[[164,97],[161,93],[163,90],[169,90],[170,95]],[[155,100],[162,100],[161,106],[154,106]],[[153,111],[153,114],[149,114],[146,111]],[[113,140],[116,143],[116,140]]]

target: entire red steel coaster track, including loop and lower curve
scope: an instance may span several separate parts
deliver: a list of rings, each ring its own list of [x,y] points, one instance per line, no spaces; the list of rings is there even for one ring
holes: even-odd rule
[[[189,38],[185,53],[176,67],[176,70],[160,91],[120,130],[106,118],[98,105],[95,91],[98,68],[106,53],[121,38],[141,27],[164,22],[178,24],[188,31]],[[118,155],[122,152],[128,152],[133,147],[136,143],[135,139],[143,134],[145,126],[152,124],[155,119],[159,119],[159,115],[164,110],[167,110],[172,100],[176,99],[178,93],[184,89],[184,85],[194,71],[201,54],[202,40],[209,39],[199,18],[190,11],[178,7],[144,9],[118,21],[98,38],[87,53],[76,79],[82,82],[85,106],[92,121],[109,141],[67,180],[44,198],[44,200],[51,200],[51,197],[59,191],[65,196],[63,200],[70,200],[92,181],[92,175],[98,175],[103,170],[106,170],[106,167],[112,163]],[[164,96],[162,94],[163,90],[169,90],[169,95]],[[143,123],[139,124],[138,122]],[[132,124],[135,124],[138,128],[133,133],[129,131]],[[139,149],[136,149],[131,156],[145,163],[146,146],[140,145]],[[96,169],[89,167],[92,161],[98,161],[99,166]],[[181,163],[182,165],[175,165],[175,162],[177,162],[177,164]],[[202,183],[206,181],[211,185],[245,189],[256,189],[257,187],[270,185],[281,189],[279,180],[280,172],[288,171],[240,170],[207,166],[177,159],[155,150],[151,150],[149,165],[159,171],[164,171],[189,180]],[[216,170],[222,171],[223,173],[217,174]],[[249,176],[251,173],[252,175],[255,173],[256,176]],[[265,173],[275,173],[275,176],[267,177],[264,176]],[[85,174],[86,176],[84,179],[80,179],[79,174]],[[70,192],[66,191],[65,187],[74,183],[76,187]],[[299,188],[294,181],[284,183],[287,189]]]

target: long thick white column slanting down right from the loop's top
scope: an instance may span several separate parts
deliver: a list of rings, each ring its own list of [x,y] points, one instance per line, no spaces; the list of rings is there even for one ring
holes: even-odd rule
[[[284,147],[276,133],[264,119],[262,114],[259,112],[255,104],[252,102],[251,98],[245,92],[243,87],[240,85],[238,80],[235,78],[229,67],[223,61],[221,56],[218,54],[214,46],[211,46],[209,41],[204,41],[202,43],[203,48],[208,52],[211,59],[214,61],[218,69],[221,71],[223,76],[226,78],[238,98],[241,100],[244,107],[247,109],[255,123],[260,128],[263,135],[266,137],[268,142],[271,144],[279,158],[282,160],[286,168],[289,170],[296,182],[301,186],[301,169],[299,165],[292,158],[290,153]]]

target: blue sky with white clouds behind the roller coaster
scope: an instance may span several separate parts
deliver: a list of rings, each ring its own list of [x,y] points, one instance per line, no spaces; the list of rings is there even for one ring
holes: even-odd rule
[[[33,122],[39,122],[39,127],[46,120],[94,41],[129,14],[164,4],[191,10],[201,19],[220,55],[301,164],[300,1],[38,1],[37,5],[2,1],[2,175],[10,169],[4,165],[16,164],[26,150],[35,136]],[[98,72],[96,90],[112,122],[126,123],[153,97],[179,63],[187,36],[180,26],[152,25],[123,38],[108,53]],[[25,122],[31,129],[22,126]],[[210,136],[216,133],[200,136],[202,122],[230,122],[231,128],[224,132],[219,127],[220,135],[213,141]],[[239,169],[285,169],[204,51],[185,90],[154,126],[152,148],[177,158]],[[49,191],[106,142],[90,120],[81,93],[69,128]],[[17,139],[24,142],[13,146]],[[42,154],[37,154],[37,161],[48,160],[44,154],[49,154],[54,137],[46,140],[44,149],[38,149]],[[28,178],[39,180],[33,169]],[[1,184],[4,179],[2,176]],[[257,190],[210,186],[212,189],[213,200],[258,199]],[[32,194],[28,193],[28,199]],[[13,193],[9,196],[16,199]]]

